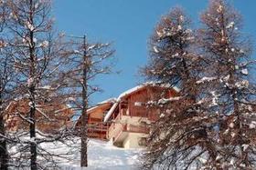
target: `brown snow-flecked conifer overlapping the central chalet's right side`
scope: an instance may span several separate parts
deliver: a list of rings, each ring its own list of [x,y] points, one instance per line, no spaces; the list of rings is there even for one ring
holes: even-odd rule
[[[144,167],[160,169],[199,167],[201,157],[214,157],[214,145],[209,139],[208,122],[198,81],[208,62],[198,55],[196,34],[190,28],[190,20],[181,8],[174,8],[156,26],[150,42],[150,63],[143,72],[150,80],[160,84],[178,86],[178,96],[156,107],[162,114],[152,124],[148,152],[144,155]],[[165,100],[166,101],[166,100]]]

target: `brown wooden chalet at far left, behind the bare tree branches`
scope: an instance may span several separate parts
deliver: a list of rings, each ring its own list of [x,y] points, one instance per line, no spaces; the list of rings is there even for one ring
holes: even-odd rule
[[[12,101],[5,109],[5,127],[7,131],[16,132],[28,129],[25,119],[29,113],[28,99]],[[59,129],[72,125],[74,112],[67,105],[45,103],[37,106],[37,130],[43,133],[58,133]]]

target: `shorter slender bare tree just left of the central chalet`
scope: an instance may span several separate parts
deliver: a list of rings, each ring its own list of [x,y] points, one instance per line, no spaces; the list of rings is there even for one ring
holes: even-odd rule
[[[86,36],[72,37],[80,38],[82,42],[73,41],[73,50],[67,60],[67,72],[62,75],[62,81],[66,82],[67,88],[71,88],[68,93],[70,104],[80,111],[80,166],[88,166],[87,156],[87,109],[90,96],[101,91],[97,85],[93,85],[93,80],[99,75],[110,74],[112,72],[112,55],[114,51],[110,44],[90,44]]]

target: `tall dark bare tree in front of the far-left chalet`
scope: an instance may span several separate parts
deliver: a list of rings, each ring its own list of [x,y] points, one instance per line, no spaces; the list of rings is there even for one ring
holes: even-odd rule
[[[56,79],[62,64],[61,57],[68,54],[67,45],[53,33],[51,1],[13,0],[7,1],[5,7],[8,15],[3,39],[11,49],[7,56],[12,59],[17,75],[16,100],[25,102],[28,107],[9,114],[21,118],[29,129],[28,132],[27,128],[19,129],[13,135],[16,153],[11,155],[12,165],[17,168],[29,166],[33,170],[57,166],[54,159],[63,155],[49,151],[42,144],[65,144],[64,139],[70,133],[67,129],[59,129],[58,134],[45,134],[37,130],[37,125],[42,121],[56,121],[56,117],[53,119],[51,116],[55,112],[46,113],[48,109],[44,108],[65,102],[59,96],[61,85]]]

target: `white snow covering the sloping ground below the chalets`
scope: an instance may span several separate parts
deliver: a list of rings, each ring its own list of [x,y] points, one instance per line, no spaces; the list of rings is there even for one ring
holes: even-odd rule
[[[23,143],[36,143],[40,139],[46,139],[43,135],[37,134],[37,137],[22,137]],[[80,167],[80,138],[72,137],[62,142],[46,142],[38,145],[46,152],[53,155],[54,161],[63,170],[129,170],[140,169],[139,157],[144,149],[125,149],[112,145],[112,142],[106,142],[96,139],[89,139],[88,143],[88,167]],[[12,156],[18,156],[19,148],[10,147]],[[59,156],[56,156],[59,155]],[[38,161],[41,165],[50,165],[50,161],[38,155]],[[27,168],[24,168],[27,169]],[[48,168],[47,168],[48,169]],[[49,168],[53,169],[53,168]],[[54,168],[55,169],[55,168]]]

